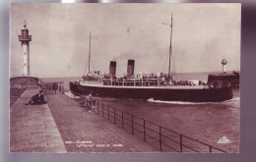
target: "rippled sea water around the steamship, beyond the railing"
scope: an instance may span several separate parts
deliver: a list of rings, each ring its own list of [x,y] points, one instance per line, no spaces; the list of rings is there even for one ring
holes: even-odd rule
[[[197,74],[198,80],[207,80],[207,74]],[[182,76],[183,80],[195,80],[193,75]],[[73,81],[79,78],[73,78]],[[64,81],[68,90],[70,78],[42,79],[42,81]],[[223,102],[175,102],[96,98],[109,107],[129,112],[137,117],[156,123],[182,135],[209,143],[228,152],[238,152],[240,123],[240,90],[233,89],[233,98]],[[231,143],[217,143],[226,136]]]

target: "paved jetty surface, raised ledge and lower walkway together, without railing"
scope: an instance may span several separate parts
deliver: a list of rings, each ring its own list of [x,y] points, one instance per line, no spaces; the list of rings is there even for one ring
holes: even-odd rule
[[[10,108],[11,152],[158,152],[134,135],[79,107],[62,92],[47,104],[25,105],[40,87],[27,88]]]

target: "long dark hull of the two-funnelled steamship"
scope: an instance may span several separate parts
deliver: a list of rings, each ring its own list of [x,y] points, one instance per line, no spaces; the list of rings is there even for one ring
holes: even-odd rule
[[[74,93],[89,94],[91,91],[99,97],[131,98],[162,101],[220,102],[232,98],[231,87],[209,88],[203,86],[112,86],[79,84],[70,82]]]

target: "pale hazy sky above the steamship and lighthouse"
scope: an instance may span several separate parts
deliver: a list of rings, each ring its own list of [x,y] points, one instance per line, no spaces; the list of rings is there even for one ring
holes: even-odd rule
[[[31,76],[79,77],[91,70],[117,75],[135,60],[135,73],[167,73],[172,26],[171,71],[175,73],[240,70],[239,4],[12,4],[10,77],[22,74],[18,35],[24,20],[32,41]]]

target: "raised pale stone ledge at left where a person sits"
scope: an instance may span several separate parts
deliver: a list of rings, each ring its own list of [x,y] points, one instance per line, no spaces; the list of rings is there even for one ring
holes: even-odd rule
[[[48,105],[25,105],[37,92],[25,90],[10,108],[10,151],[67,152]]]

